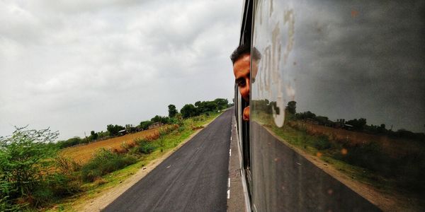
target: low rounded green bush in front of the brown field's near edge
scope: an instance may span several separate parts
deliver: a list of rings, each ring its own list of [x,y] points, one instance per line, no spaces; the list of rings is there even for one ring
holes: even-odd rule
[[[120,170],[136,162],[137,159],[135,157],[112,153],[111,151],[101,148],[101,150],[94,155],[94,158],[91,158],[88,163],[81,167],[81,178],[85,182],[94,182],[98,177],[115,170]]]

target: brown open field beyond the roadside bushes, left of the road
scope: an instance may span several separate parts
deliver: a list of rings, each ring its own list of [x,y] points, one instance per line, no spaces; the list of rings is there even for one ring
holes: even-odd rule
[[[162,126],[164,127],[164,126]],[[159,129],[148,129],[145,131],[140,131],[135,134],[127,134],[125,136],[115,137],[113,139],[108,139],[104,141],[97,141],[94,143],[89,143],[87,145],[83,146],[75,146],[66,148],[63,151],[61,151],[61,155],[67,158],[71,158],[72,160],[76,161],[77,163],[86,163],[87,160],[91,158],[91,156],[99,149],[99,148],[115,148],[119,149],[121,148],[121,145],[125,143],[133,142],[137,138],[145,138],[153,135],[159,134]]]

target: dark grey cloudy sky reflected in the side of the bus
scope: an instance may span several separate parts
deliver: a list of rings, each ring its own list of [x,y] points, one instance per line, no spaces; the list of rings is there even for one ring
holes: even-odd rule
[[[278,77],[264,69],[280,55],[284,105],[295,100],[297,112],[425,132],[425,1],[269,2],[256,10],[254,45],[263,54],[256,83],[268,81],[274,92],[253,84],[252,98],[277,99]]]

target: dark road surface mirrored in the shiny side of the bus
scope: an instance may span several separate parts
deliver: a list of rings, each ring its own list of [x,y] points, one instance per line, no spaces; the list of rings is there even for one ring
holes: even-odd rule
[[[380,211],[252,122],[256,211]]]

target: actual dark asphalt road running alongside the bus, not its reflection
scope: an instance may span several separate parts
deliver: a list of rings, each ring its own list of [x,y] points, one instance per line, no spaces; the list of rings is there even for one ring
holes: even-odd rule
[[[226,211],[227,110],[103,211]]]

